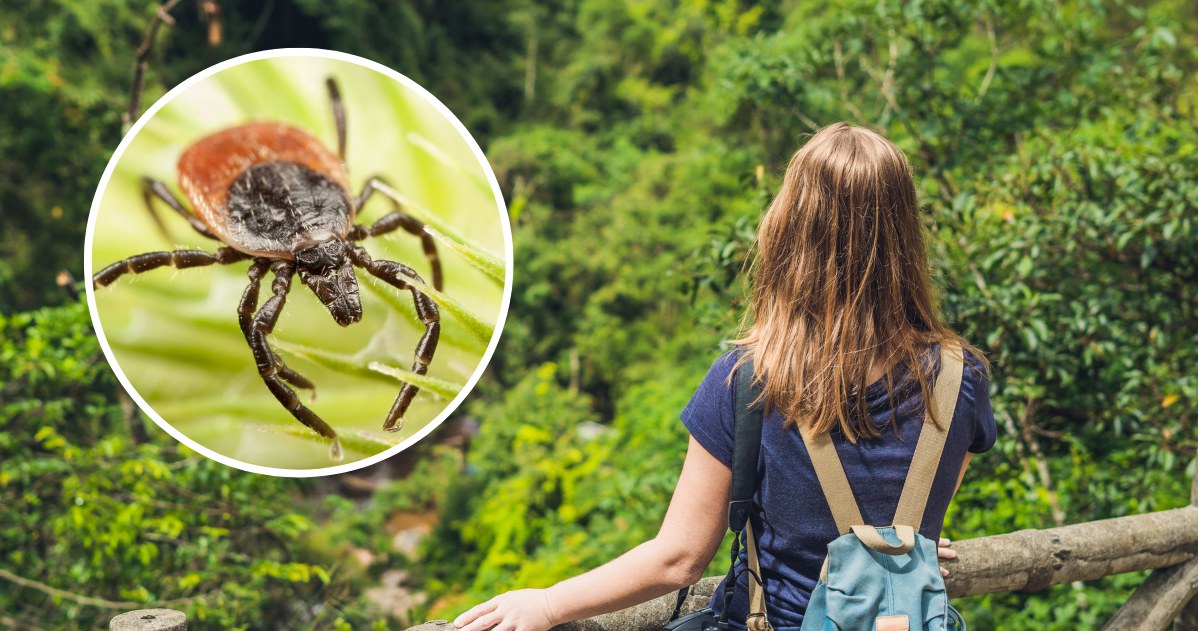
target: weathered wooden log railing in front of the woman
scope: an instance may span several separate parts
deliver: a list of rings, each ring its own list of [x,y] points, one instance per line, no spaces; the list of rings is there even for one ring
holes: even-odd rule
[[[1136,589],[1103,631],[1198,631],[1198,475],[1190,505],[1145,515],[1115,517],[1045,530],[967,539],[952,545],[957,558],[945,560],[945,586],[952,597],[1043,589],[1049,586],[1094,581],[1105,576],[1154,570]],[[712,600],[719,577],[704,578],[690,590],[683,612]],[[667,594],[618,612],[568,623],[553,631],[659,631],[673,611]],[[147,609],[162,617],[165,609]],[[176,631],[179,618],[140,619],[143,626],[117,626],[146,612],[114,618],[111,630]],[[177,612],[176,612],[177,613]],[[179,614],[181,615],[181,614]],[[126,618],[129,617],[129,618]],[[406,631],[446,631],[453,625],[434,620]]]

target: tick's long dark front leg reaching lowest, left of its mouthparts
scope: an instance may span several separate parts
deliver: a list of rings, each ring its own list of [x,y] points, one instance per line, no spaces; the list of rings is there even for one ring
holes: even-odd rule
[[[258,268],[258,262],[254,263],[254,269]],[[254,315],[253,321],[249,323],[249,334],[247,340],[249,341],[249,350],[254,353],[254,364],[258,365],[258,375],[262,377],[262,382],[266,383],[266,388],[271,390],[271,394],[278,399],[279,404],[291,413],[300,423],[303,423],[311,431],[323,436],[325,438],[332,438],[333,443],[328,448],[328,456],[333,460],[341,460],[341,443],[337,439],[337,432],[328,426],[327,423],[321,420],[315,412],[308,409],[302,402],[300,402],[300,396],[296,392],[283,383],[283,375],[279,372],[279,366],[276,363],[274,352],[271,351],[271,345],[266,340],[267,335],[274,330],[274,324],[279,321],[279,314],[283,311],[283,305],[288,299],[288,292],[291,290],[291,277],[296,273],[295,263],[291,261],[274,261],[271,265],[271,272],[274,273],[274,281],[271,284],[271,291],[273,296],[266,301],[266,304],[258,310]],[[265,269],[259,273],[259,280],[265,273]],[[253,279],[253,272],[250,273],[250,285],[258,283]],[[256,299],[255,299],[256,302]],[[242,298],[242,304],[246,304],[246,298]],[[240,311],[238,311],[240,315]]]

